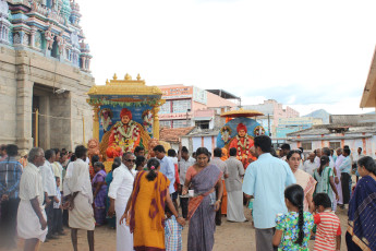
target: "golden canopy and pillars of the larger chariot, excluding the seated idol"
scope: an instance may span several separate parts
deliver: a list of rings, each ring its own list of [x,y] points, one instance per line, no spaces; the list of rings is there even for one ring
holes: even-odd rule
[[[118,117],[123,108],[131,110],[133,120],[140,125],[144,124],[150,138],[159,139],[158,111],[165,104],[165,99],[161,99],[162,92],[157,86],[147,86],[140,74],[136,80],[132,80],[128,73],[123,80],[114,74],[112,80],[106,81],[106,85],[94,85],[87,95],[87,103],[94,109],[94,139],[102,141],[106,132],[120,119]],[[150,113],[148,124],[144,123],[146,112]]]

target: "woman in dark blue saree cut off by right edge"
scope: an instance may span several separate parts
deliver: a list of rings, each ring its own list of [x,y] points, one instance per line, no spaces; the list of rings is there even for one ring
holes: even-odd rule
[[[372,157],[357,162],[362,179],[349,203],[349,226],[345,242],[349,251],[376,250],[376,164]]]

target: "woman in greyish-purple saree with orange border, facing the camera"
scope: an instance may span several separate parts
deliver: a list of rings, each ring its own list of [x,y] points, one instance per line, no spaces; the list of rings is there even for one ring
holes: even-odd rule
[[[210,165],[209,152],[205,147],[196,151],[197,163],[186,171],[183,194],[189,188],[194,190],[194,196],[189,204],[189,240],[187,251],[211,251],[214,247],[214,232],[216,230],[216,211],[220,207],[223,194],[221,181],[222,172]],[[216,194],[218,188],[218,194]]]

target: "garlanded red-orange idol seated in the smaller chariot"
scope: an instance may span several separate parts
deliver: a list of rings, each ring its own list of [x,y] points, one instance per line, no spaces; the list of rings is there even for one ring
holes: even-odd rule
[[[247,134],[247,129],[243,123],[236,127],[238,135],[232,139],[229,148],[236,148],[236,158],[242,162],[246,168],[255,158],[251,153],[251,147],[254,144],[252,136]]]

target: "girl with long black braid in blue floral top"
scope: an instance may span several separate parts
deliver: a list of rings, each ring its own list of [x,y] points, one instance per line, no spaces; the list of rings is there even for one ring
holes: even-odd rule
[[[303,212],[304,198],[301,186],[291,184],[286,188],[284,202],[289,213],[277,216],[272,237],[272,244],[278,250],[310,250],[308,240],[314,218],[310,212]]]

